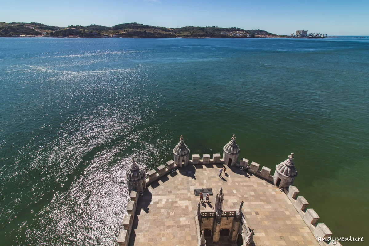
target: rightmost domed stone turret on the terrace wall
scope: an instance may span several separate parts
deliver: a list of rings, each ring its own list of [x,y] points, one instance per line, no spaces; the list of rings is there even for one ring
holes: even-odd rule
[[[296,167],[293,163],[294,154],[288,156],[288,159],[279,163],[276,166],[276,170],[273,176],[273,183],[278,188],[289,187],[293,184],[295,177],[297,176]]]

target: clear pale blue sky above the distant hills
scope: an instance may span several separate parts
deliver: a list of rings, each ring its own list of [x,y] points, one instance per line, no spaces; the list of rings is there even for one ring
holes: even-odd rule
[[[163,27],[218,26],[369,35],[369,0],[12,0],[0,2],[0,21],[47,25],[138,22]]]

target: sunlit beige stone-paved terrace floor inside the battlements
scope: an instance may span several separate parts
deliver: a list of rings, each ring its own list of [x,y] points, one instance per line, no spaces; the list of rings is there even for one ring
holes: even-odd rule
[[[254,229],[256,246],[316,245],[313,234],[286,194],[258,176],[227,168],[228,177],[218,177],[223,164],[205,164],[177,169],[151,183],[137,204],[130,246],[197,246],[195,211],[199,197],[195,188],[212,188],[212,206],[223,187],[223,209],[238,209]],[[205,195],[204,195],[205,198]],[[201,210],[210,210],[207,204]]]

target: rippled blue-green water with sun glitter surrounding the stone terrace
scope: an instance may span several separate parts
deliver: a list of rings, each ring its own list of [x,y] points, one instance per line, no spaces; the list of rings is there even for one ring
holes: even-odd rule
[[[272,168],[335,236],[369,219],[369,40],[0,38],[1,245],[115,245],[132,156]],[[345,245],[349,245],[346,243]],[[356,244],[355,244],[356,245]]]

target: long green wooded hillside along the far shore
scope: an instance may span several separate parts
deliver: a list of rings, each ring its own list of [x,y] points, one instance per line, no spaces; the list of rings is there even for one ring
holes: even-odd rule
[[[101,37],[106,35],[117,35],[118,37],[139,37],[139,38],[254,38],[254,37],[275,37],[275,34],[264,30],[245,30],[242,28],[231,27],[155,27],[143,25],[136,22],[118,24],[113,27],[102,25],[69,25],[68,27],[54,27],[36,22],[22,23],[0,22],[0,36],[14,37],[20,35],[36,35],[46,37]]]

